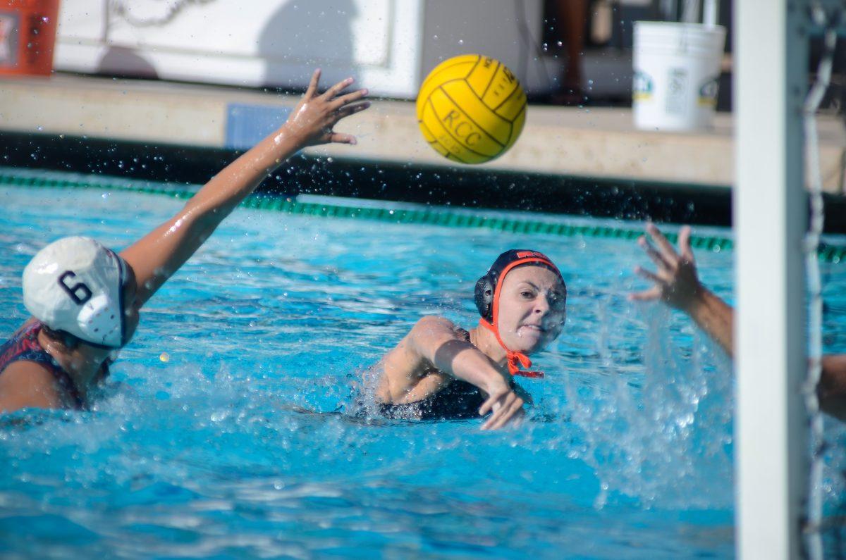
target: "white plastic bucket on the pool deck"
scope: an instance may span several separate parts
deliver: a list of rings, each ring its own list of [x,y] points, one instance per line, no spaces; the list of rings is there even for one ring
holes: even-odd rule
[[[722,25],[634,22],[634,126],[710,127],[725,41]]]

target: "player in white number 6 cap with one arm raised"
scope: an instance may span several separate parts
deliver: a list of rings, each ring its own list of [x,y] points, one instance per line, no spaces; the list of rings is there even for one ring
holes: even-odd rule
[[[365,109],[352,79],[318,95],[320,71],[288,122],[200,189],[179,213],[118,255],[93,239],[59,239],[26,266],[24,304],[32,314],[0,346],[0,412],[29,407],[84,408],[108,374],[114,350],[132,338],[138,310],[214,232],[224,217],[306,145],[354,144],[332,131]]]

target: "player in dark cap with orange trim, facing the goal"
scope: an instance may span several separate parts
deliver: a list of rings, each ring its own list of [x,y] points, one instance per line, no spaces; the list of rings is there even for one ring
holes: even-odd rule
[[[529,396],[514,376],[541,377],[529,354],[558,337],[567,287],[547,256],[533,250],[499,255],[475,286],[481,319],[465,331],[426,316],[371,370],[375,412],[405,420],[474,418],[483,429],[524,414]],[[365,407],[366,412],[366,407]]]

